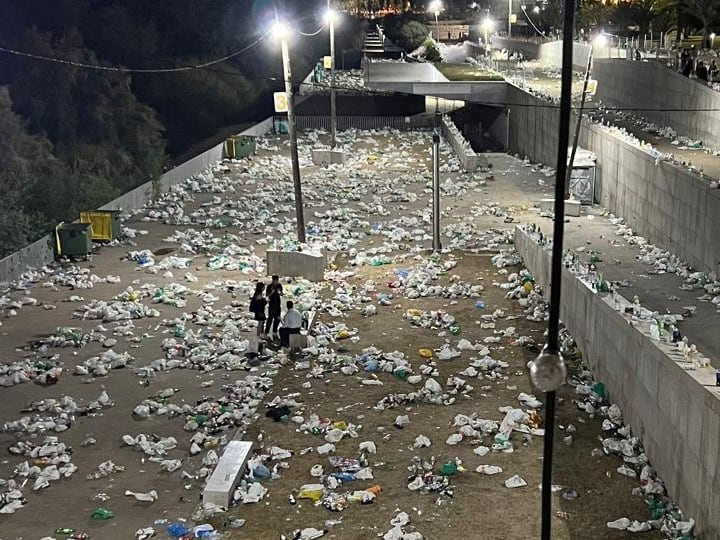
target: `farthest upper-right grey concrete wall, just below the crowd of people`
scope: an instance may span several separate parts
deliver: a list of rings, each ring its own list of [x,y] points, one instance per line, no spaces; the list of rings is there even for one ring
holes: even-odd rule
[[[720,149],[720,92],[659,62],[598,60],[593,75],[603,103],[641,109],[640,115],[661,127]]]

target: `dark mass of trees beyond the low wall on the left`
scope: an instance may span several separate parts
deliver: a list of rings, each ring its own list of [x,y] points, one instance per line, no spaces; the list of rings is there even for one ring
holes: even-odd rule
[[[282,13],[305,33],[319,0],[0,0],[3,46],[43,57],[141,69],[194,66],[265,35]],[[343,21],[339,51],[362,43]],[[297,83],[327,54],[327,31],[291,47]],[[96,71],[0,55],[0,256],[60,220],[156,179],[165,149],[179,154],[220,129],[271,113],[283,82],[266,39],[207,69]],[[167,137],[167,142],[166,142]]]

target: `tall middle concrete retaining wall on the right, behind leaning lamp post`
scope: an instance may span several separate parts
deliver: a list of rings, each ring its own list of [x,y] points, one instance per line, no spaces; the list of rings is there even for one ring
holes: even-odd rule
[[[555,166],[559,109],[513,86],[508,95],[510,151]],[[575,117],[571,130],[574,124]],[[718,190],[681,167],[656,165],[650,154],[596,124],[583,123],[579,144],[597,156],[597,202],[695,268],[720,269]]]

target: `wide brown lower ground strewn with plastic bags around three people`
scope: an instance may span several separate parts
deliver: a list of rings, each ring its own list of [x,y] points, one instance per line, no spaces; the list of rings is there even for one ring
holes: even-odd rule
[[[465,175],[444,148],[435,259],[430,133],[344,132],[348,162],[315,167],[309,148],[324,141],[301,140],[305,249],[333,263],[323,283],[284,282],[317,312],[302,357],[246,355],[265,250],[295,248],[275,137],[174,188],[90,262],[3,293],[3,538],[442,539],[470,523],[484,538],[537,534],[542,404],[525,364],[544,309],[516,256],[497,254],[516,223],[542,219],[532,205],[552,170],[492,155]],[[555,537],[629,537],[616,528],[662,519],[641,496],[656,484],[640,441],[598,439],[632,438],[600,394],[561,396]],[[237,429],[255,441],[254,479],[230,512],[199,508]]]

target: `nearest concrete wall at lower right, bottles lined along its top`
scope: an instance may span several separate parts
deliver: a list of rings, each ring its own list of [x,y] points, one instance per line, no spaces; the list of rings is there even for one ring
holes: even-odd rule
[[[550,252],[516,229],[515,245],[546,294]],[[628,325],[606,295],[564,270],[560,316],[611,401],[642,438],[669,495],[697,521],[705,540],[720,539],[720,393],[711,368],[688,372],[649,332]]]

